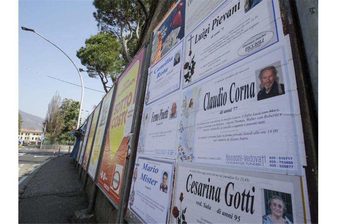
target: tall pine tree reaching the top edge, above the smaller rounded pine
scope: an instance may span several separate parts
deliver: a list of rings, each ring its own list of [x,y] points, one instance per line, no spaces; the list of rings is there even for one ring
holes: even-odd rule
[[[101,31],[116,36],[121,45],[121,54],[128,64],[133,55],[134,47],[140,37],[140,28],[143,26],[150,6],[149,0],[94,0],[97,9],[93,13]]]

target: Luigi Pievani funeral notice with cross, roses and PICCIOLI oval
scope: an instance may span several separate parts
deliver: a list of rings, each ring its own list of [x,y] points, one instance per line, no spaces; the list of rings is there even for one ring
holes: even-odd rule
[[[279,41],[274,1],[247,2],[224,1],[186,34],[183,88]]]

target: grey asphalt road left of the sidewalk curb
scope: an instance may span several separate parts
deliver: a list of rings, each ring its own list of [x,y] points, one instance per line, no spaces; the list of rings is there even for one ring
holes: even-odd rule
[[[25,153],[25,155],[22,155]],[[56,153],[56,155],[58,152]],[[19,149],[19,180],[44,161],[53,157],[53,150],[21,147]]]

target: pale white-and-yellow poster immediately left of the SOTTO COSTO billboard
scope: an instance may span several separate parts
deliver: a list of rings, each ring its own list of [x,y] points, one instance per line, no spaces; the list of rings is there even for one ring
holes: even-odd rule
[[[94,144],[92,146],[92,151],[91,151],[90,165],[88,168],[88,174],[93,179],[95,178],[95,174],[97,170],[98,159],[99,159],[99,154],[101,152],[101,145],[102,145],[103,137],[105,134],[104,131],[105,131],[106,123],[108,123],[108,115],[109,115],[113,93],[114,93],[114,86],[111,87],[108,93],[106,93],[102,101],[102,108],[99,114],[97,130],[96,130],[96,134],[94,137]]]

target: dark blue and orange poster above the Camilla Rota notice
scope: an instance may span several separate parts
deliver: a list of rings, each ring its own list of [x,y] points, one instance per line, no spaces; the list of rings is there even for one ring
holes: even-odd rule
[[[151,65],[154,65],[185,36],[185,0],[172,5],[153,31]]]

